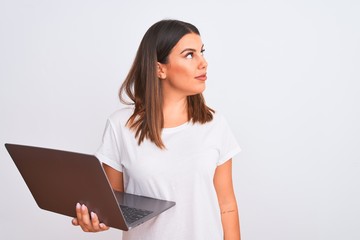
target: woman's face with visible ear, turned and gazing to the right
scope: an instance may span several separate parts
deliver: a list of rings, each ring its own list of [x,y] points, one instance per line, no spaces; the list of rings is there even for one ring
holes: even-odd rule
[[[207,62],[199,35],[184,35],[168,56],[168,63],[159,63],[165,96],[185,97],[205,90]]]

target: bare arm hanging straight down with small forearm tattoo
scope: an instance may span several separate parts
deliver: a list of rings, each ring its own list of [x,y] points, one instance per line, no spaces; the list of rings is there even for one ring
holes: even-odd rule
[[[240,240],[240,223],[232,183],[231,159],[216,168],[214,186],[221,211],[224,240]]]

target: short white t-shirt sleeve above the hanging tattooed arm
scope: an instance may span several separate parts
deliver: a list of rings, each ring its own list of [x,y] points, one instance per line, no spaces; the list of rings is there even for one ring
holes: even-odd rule
[[[221,115],[219,120],[221,142],[219,146],[220,156],[217,165],[225,163],[241,151],[226,119]]]

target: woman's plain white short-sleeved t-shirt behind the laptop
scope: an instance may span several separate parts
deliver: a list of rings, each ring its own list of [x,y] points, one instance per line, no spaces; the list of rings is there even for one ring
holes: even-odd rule
[[[240,152],[224,117],[215,113],[206,124],[164,128],[166,149],[161,150],[149,140],[138,145],[134,132],[125,126],[132,113],[133,108],[124,108],[110,116],[96,156],[123,172],[125,192],[176,205],[123,232],[123,239],[223,239],[213,177],[218,165]]]

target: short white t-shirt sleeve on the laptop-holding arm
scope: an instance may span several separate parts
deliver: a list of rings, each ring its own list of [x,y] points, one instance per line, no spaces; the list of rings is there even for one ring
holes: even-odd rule
[[[102,143],[95,156],[102,163],[122,172],[121,145],[110,119],[106,122]]]

